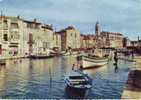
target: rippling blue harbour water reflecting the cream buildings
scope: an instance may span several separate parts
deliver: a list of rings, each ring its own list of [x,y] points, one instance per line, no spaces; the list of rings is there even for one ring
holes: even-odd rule
[[[8,60],[0,66],[0,97],[10,99],[62,99],[65,93],[64,75],[71,70],[76,58],[55,57],[43,60]],[[113,62],[107,66],[84,70],[93,78],[87,98],[119,99],[133,63],[119,61],[115,71]]]

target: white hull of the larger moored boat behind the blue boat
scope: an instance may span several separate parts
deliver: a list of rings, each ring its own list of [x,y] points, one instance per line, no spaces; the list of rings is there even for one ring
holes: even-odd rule
[[[108,63],[108,58],[92,58],[83,56],[81,63],[83,65],[83,68],[95,68],[106,65]]]

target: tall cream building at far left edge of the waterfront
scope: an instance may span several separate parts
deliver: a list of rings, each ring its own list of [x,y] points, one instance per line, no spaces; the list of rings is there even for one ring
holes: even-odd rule
[[[23,27],[19,17],[1,16],[0,48],[1,57],[11,58],[22,55]]]

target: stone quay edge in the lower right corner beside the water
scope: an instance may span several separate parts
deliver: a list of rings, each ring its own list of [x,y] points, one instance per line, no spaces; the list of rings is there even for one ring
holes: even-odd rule
[[[141,57],[136,57],[135,60],[136,67],[128,75],[122,99],[141,99]]]

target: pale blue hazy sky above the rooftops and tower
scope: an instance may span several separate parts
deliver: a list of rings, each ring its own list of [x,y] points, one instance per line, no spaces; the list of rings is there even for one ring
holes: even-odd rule
[[[56,31],[74,26],[83,34],[94,34],[98,21],[102,31],[120,32],[136,40],[141,37],[141,0],[0,0],[7,16],[52,24]]]

